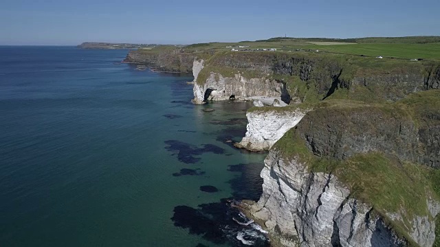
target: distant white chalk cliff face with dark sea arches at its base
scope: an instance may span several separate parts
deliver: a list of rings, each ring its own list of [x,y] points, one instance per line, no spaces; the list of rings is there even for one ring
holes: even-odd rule
[[[220,73],[210,73],[206,82],[194,85],[195,104],[203,104],[206,100],[246,99],[253,96],[281,97],[283,84],[267,78],[245,78],[240,73],[234,77],[223,77]]]

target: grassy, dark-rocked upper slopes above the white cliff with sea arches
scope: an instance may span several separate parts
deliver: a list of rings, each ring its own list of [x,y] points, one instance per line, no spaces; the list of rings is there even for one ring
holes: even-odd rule
[[[327,97],[364,102],[397,100],[414,91],[437,89],[440,62],[366,58],[298,51],[217,51],[197,56],[205,60],[197,83],[210,73],[223,77],[268,78],[287,85],[298,102]]]

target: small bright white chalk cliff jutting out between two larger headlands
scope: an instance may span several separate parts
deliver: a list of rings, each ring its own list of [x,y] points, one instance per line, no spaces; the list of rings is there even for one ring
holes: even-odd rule
[[[307,111],[291,108],[252,110],[246,113],[248,117],[246,135],[240,143],[235,143],[235,146],[251,151],[269,150],[287,130],[294,128],[303,119]]]

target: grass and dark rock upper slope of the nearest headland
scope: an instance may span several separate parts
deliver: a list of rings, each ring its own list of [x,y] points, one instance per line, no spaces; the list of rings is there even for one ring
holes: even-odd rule
[[[433,220],[426,202],[440,200],[440,170],[420,164],[438,150],[426,148],[415,135],[426,126],[440,126],[439,106],[439,90],[395,103],[326,100],[315,104],[273,149],[287,160],[298,158],[309,172],[338,177],[352,198],[371,204],[410,246],[417,246],[408,235],[410,221],[416,215]],[[391,219],[389,213],[403,219]]]

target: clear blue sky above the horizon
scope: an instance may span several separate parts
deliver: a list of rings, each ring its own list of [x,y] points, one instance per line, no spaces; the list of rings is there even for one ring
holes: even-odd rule
[[[440,36],[439,0],[1,0],[0,45]]]

